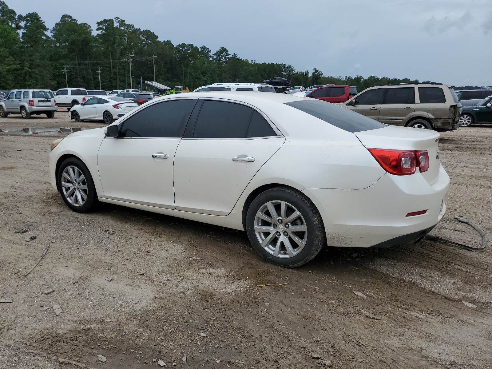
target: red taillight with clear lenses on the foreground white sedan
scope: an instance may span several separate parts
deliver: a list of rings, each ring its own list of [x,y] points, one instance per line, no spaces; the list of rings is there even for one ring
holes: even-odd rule
[[[425,172],[429,169],[429,154],[425,150],[368,150],[385,171],[397,176],[414,174],[416,167],[419,167],[421,172]]]

